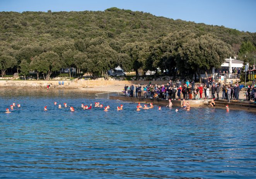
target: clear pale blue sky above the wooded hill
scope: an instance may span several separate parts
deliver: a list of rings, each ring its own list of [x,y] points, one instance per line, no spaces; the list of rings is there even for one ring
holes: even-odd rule
[[[256,32],[256,0],[0,0],[0,11],[104,11],[110,7]]]

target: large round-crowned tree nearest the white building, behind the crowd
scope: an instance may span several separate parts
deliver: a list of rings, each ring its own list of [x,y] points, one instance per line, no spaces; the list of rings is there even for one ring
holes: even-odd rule
[[[178,53],[185,68],[191,68],[200,77],[200,70],[219,68],[233,51],[231,46],[223,41],[204,35],[184,43]]]

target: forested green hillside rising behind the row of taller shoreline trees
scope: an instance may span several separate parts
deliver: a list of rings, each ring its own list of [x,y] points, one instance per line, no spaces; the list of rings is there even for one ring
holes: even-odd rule
[[[231,46],[248,40],[256,45],[256,33],[156,17],[115,7],[105,11],[0,12],[0,40],[16,41],[15,48],[35,42],[49,43],[55,39],[76,40],[99,36],[108,39],[113,46],[123,46],[135,41],[150,42],[179,30],[190,30],[200,35],[210,33]]]

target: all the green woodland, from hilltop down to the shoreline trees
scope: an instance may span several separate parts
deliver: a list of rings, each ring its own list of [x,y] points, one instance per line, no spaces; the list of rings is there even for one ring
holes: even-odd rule
[[[107,78],[118,65],[137,77],[157,68],[174,77],[177,70],[198,75],[229,56],[252,64],[256,45],[256,33],[117,8],[0,12],[0,34],[2,75],[33,70],[44,79],[72,67]]]

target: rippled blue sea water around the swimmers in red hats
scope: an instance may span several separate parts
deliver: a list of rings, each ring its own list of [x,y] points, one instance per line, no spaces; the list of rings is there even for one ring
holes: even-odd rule
[[[0,90],[0,178],[255,178],[255,113],[95,99],[72,91]],[[75,108],[58,109],[53,102]],[[82,103],[110,105],[109,112]],[[116,106],[124,105],[123,111]],[[48,105],[49,111],[43,111]]]

